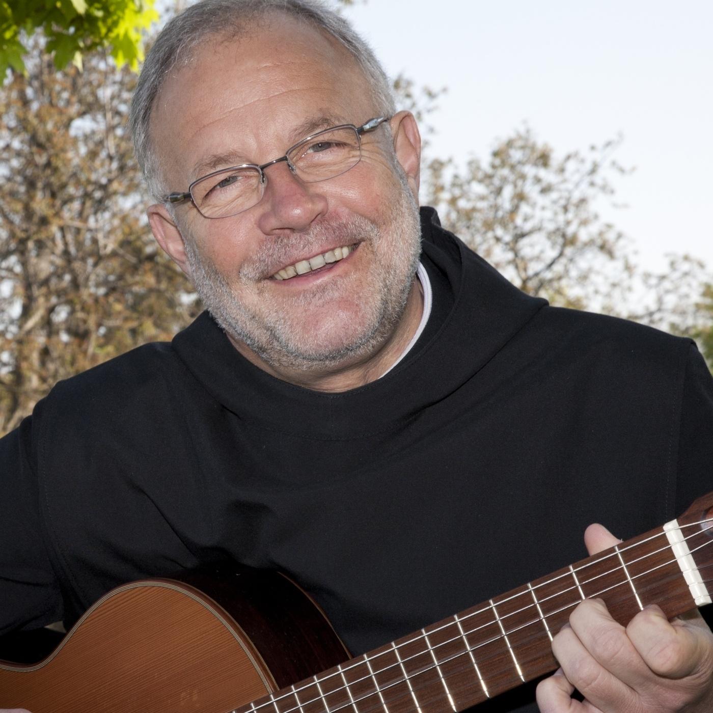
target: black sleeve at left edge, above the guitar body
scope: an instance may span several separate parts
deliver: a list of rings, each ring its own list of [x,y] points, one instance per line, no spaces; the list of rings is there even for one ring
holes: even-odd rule
[[[0,438],[0,635],[62,618],[61,588],[41,530],[34,418]]]

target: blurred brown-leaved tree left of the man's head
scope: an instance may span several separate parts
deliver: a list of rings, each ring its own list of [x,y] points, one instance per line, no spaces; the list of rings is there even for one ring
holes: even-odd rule
[[[198,312],[143,217],[134,83],[99,53],[57,72],[38,51],[0,95],[0,432],[59,379]]]

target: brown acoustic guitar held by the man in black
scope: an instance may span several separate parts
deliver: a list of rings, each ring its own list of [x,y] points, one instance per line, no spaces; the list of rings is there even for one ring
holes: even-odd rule
[[[0,662],[0,707],[32,713],[442,713],[557,667],[550,642],[585,597],[625,625],[711,602],[713,493],[677,520],[349,659],[278,573],[153,579],[96,602],[35,665]]]

